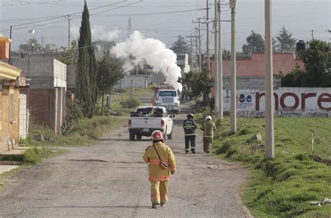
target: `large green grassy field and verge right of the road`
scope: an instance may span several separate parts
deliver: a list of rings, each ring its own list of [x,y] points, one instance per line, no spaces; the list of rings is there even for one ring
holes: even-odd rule
[[[327,118],[274,119],[275,159],[264,161],[264,119],[238,118],[237,133],[226,117],[216,121],[213,151],[220,157],[244,161],[251,177],[242,197],[256,217],[330,217],[331,205],[309,205],[331,198],[331,168],[309,159],[315,134],[315,154],[331,159],[331,120]],[[263,141],[247,143],[255,133]]]

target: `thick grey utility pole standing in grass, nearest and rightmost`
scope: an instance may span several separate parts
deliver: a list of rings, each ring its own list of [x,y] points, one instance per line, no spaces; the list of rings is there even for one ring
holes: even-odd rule
[[[274,78],[272,64],[272,3],[265,0],[265,159],[274,158]]]

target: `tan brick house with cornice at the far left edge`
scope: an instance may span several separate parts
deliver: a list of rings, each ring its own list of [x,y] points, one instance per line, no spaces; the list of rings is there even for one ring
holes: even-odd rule
[[[0,35],[0,59],[8,59],[9,43],[9,38]],[[22,101],[24,95],[20,95],[20,87],[25,86],[25,80],[21,73],[20,68],[0,61],[0,153],[13,150],[19,145],[19,139],[26,136],[27,119],[21,116],[24,112],[26,115],[26,101]]]

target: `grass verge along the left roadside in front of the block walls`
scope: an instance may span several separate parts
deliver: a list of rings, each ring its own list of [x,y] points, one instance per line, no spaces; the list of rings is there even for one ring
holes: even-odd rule
[[[78,129],[70,136],[55,134],[45,126],[31,126],[26,140],[20,140],[27,146],[81,146],[95,143],[105,131],[115,129],[122,124],[122,119],[112,116],[94,116],[92,119],[80,119]],[[45,141],[35,140],[38,135],[43,135]]]

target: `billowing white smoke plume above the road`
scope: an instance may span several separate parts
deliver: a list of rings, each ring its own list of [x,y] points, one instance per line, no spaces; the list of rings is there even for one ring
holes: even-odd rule
[[[154,38],[145,38],[139,31],[134,31],[125,42],[117,43],[112,48],[112,53],[117,57],[135,57],[133,63],[148,64],[154,71],[161,71],[165,75],[166,82],[182,90],[182,84],[177,82],[181,76],[181,69],[177,66],[177,55],[165,47],[165,44]]]

